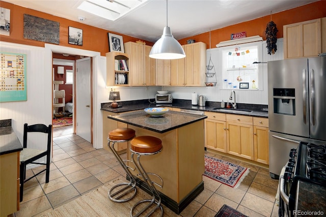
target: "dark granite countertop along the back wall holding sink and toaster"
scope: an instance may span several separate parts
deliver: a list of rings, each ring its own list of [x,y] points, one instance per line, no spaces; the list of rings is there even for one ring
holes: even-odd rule
[[[150,101],[154,101],[151,99]],[[191,104],[191,100],[182,100],[182,99],[174,99],[172,104],[155,104],[150,103],[148,100],[133,100],[133,101],[121,101],[118,102],[121,107],[111,108],[110,102],[101,103],[101,110],[113,113],[123,113],[130,112],[136,110],[143,110],[147,107],[157,107],[157,106],[168,106],[168,107],[176,107],[182,108],[186,110],[194,110],[194,111],[204,111],[204,112],[220,112],[220,113],[228,113],[235,115],[247,115],[253,117],[264,117],[268,118],[267,105],[257,105],[257,104],[242,104],[237,103],[237,108],[240,110],[251,110],[251,113],[241,113],[234,110],[228,111],[219,111],[214,110],[214,108],[221,108],[221,102],[206,102],[206,106],[194,106]],[[227,110],[227,108],[226,108]]]

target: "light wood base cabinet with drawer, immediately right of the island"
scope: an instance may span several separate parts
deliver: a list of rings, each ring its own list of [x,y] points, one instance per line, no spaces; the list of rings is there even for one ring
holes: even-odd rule
[[[226,114],[205,112],[205,147],[227,152]]]

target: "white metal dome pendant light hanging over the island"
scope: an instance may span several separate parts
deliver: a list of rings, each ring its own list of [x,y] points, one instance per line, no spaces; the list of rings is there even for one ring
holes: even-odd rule
[[[184,50],[181,44],[175,40],[168,26],[168,0],[167,0],[167,26],[163,30],[163,34],[153,45],[149,57],[153,59],[173,60],[185,58]]]

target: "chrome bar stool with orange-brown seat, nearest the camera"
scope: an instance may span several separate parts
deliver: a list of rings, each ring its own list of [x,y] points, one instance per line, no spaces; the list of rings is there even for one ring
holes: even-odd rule
[[[157,189],[155,188],[154,184],[158,185],[159,187],[162,187],[163,180],[157,174],[147,173],[140,162],[141,156],[153,155],[153,154],[159,153],[162,150],[162,141],[156,137],[144,135],[141,137],[134,138],[133,140],[131,140],[130,144],[131,144],[130,145],[131,159],[132,159],[135,167],[140,172],[140,175],[147,182],[149,191],[151,192],[151,194],[153,196],[152,199],[141,200],[141,201],[137,202],[136,204],[134,204],[130,210],[130,215],[131,216],[139,216],[145,210],[149,209],[152,206],[152,204],[156,204],[152,209],[150,209],[150,211],[146,214],[146,216],[149,216],[158,208],[160,208],[160,210],[161,210],[160,216],[162,216],[163,208],[161,206],[161,197],[160,197]],[[137,155],[137,161],[134,160],[134,157],[133,157],[134,154]],[[148,175],[154,175],[154,176],[158,177],[161,181],[161,184],[158,184],[158,183],[152,181]],[[157,199],[155,200],[155,198],[157,198]],[[149,202],[149,204],[147,206],[145,206],[140,212],[133,215],[132,213],[133,213],[133,210],[135,209],[135,207],[137,207],[139,204],[144,203],[144,202]]]

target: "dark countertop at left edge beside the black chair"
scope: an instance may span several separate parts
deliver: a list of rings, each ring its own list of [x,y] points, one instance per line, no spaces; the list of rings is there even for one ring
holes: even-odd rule
[[[11,119],[0,120],[0,155],[22,150],[16,133],[11,127]]]

